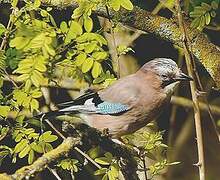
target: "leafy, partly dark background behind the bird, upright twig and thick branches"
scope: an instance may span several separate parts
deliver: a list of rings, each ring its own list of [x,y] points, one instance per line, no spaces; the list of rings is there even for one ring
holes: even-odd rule
[[[0,4],[1,173],[13,174],[62,142],[48,124],[31,120],[33,114],[55,110],[56,104],[71,100],[88,88],[105,88],[156,57],[174,59],[186,72],[180,47],[154,34],[125,27],[117,18],[110,21],[91,14],[97,4],[113,11],[132,10],[135,5],[172,18],[174,0],[134,0],[133,5],[129,0],[77,2],[77,9],[51,7],[40,0]],[[202,31],[211,43],[220,46],[219,1],[184,0],[181,7],[191,28]],[[220,125],[220,92],[198,60],[196,66],[208,102],[215,106],[213,117]],[[124,137],[127,147],[139,149],[140,167],[145,162],[148,176],[153,179],[199,179],[194,165],[198,155],[193,108],[187,99],[191,99],[189,84],[182,83],[159,119]],[[61,130],[62,123],[55,124]],[[207,179],[217,180],[220,146],[206,108],[202,108],[202,126]],[[101,171],[77,152],[71,152],[68,159],[59,159],[35,178],[55,179],[54,173],[62,179],[118,178],[119,159],[96,144],[83,145],[81,149],[102,166]],[[139,174],[145,178],[143,171]]]

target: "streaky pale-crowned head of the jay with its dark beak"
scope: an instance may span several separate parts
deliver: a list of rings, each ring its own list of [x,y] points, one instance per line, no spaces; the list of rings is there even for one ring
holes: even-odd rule
[[[147,62],[142,68],[143,71],[153,72],[161,80],[162,88],[176,84],[179,81],[191,81],[190,76],[184,74],[180,68],[178,68],[175,61],[168,58],[156,58]],[[170,89],[170,88],[169,88]]]

